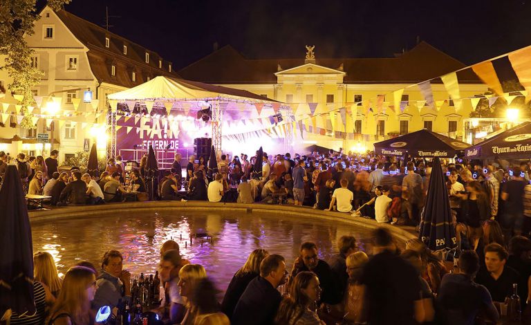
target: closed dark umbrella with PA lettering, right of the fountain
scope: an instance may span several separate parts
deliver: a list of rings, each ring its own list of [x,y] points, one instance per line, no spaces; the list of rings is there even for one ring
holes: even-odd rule
[[[439,158],[434,158],[431,162],[428,194],[420,220],[419,239],[430,250],[445,252],[457,247],[448,190]]]

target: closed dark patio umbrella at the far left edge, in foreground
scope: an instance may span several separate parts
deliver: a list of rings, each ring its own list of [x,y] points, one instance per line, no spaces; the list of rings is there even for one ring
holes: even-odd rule
[[[33,246],[25,194],[17,166],[10,165],[0,189],[0,317],[33,315]]]

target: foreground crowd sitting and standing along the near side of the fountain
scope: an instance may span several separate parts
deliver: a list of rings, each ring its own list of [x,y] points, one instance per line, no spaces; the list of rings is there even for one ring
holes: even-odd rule
[[[291,268],[281,255],[255,249],[223,297],[208,270],[184,259],[178,243],[166,241],[158,264],[160,304],[150,311],[161,320],[156,324],[182,325],[496,324],[513,284],[525,282],[519,292],[523,322],[512,324],[531,320],[530,239],[513,237],[509,252],[489,243],[483,257],[463,250],[455,267],[418,239],[401,250],[388,228],[376,228],[371,239],[372,251],[367,246],[364,252],[353,236],[340,237],[328,261],[319,258],[316,243],[306,241]],[[94,324],[103,306],[114,313],[121,304],[134,306],[136,283],[123,261],[121,252],[109,250],[101,268],[79,261],[61,278],[52,255],[36,252],[37,313],[13,313],[11,324]]]

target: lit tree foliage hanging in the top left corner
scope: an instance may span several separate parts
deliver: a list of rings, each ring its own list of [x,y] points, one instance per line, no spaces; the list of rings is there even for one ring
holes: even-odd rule
[[[48,6],[53,10],[60,10],[71,0],[48,0]],[[35,128],[32,124],[28,106],[34,104],[31,89],[39,84],[42,73],[30,64],[34,52],[28,48],[24,37],[32,35],[33,23],[39,19],[35,8],[35,0],[0,0],[0,55],[6,56],[5,68],[12,78],[8,89],[14,94],[24,95],[20,103],[24,119],[21,127]]]

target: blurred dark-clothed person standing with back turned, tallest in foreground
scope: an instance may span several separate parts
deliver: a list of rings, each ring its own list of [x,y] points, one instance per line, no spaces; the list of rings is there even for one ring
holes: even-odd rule
[[[391,232],[377,228],[372,233],[374,256],[360,278],[360,322],[369,324],[416,324],[425,321],[420,281],[410,263],[396,254]],[[391,271],[392,270],[392,271]]]

